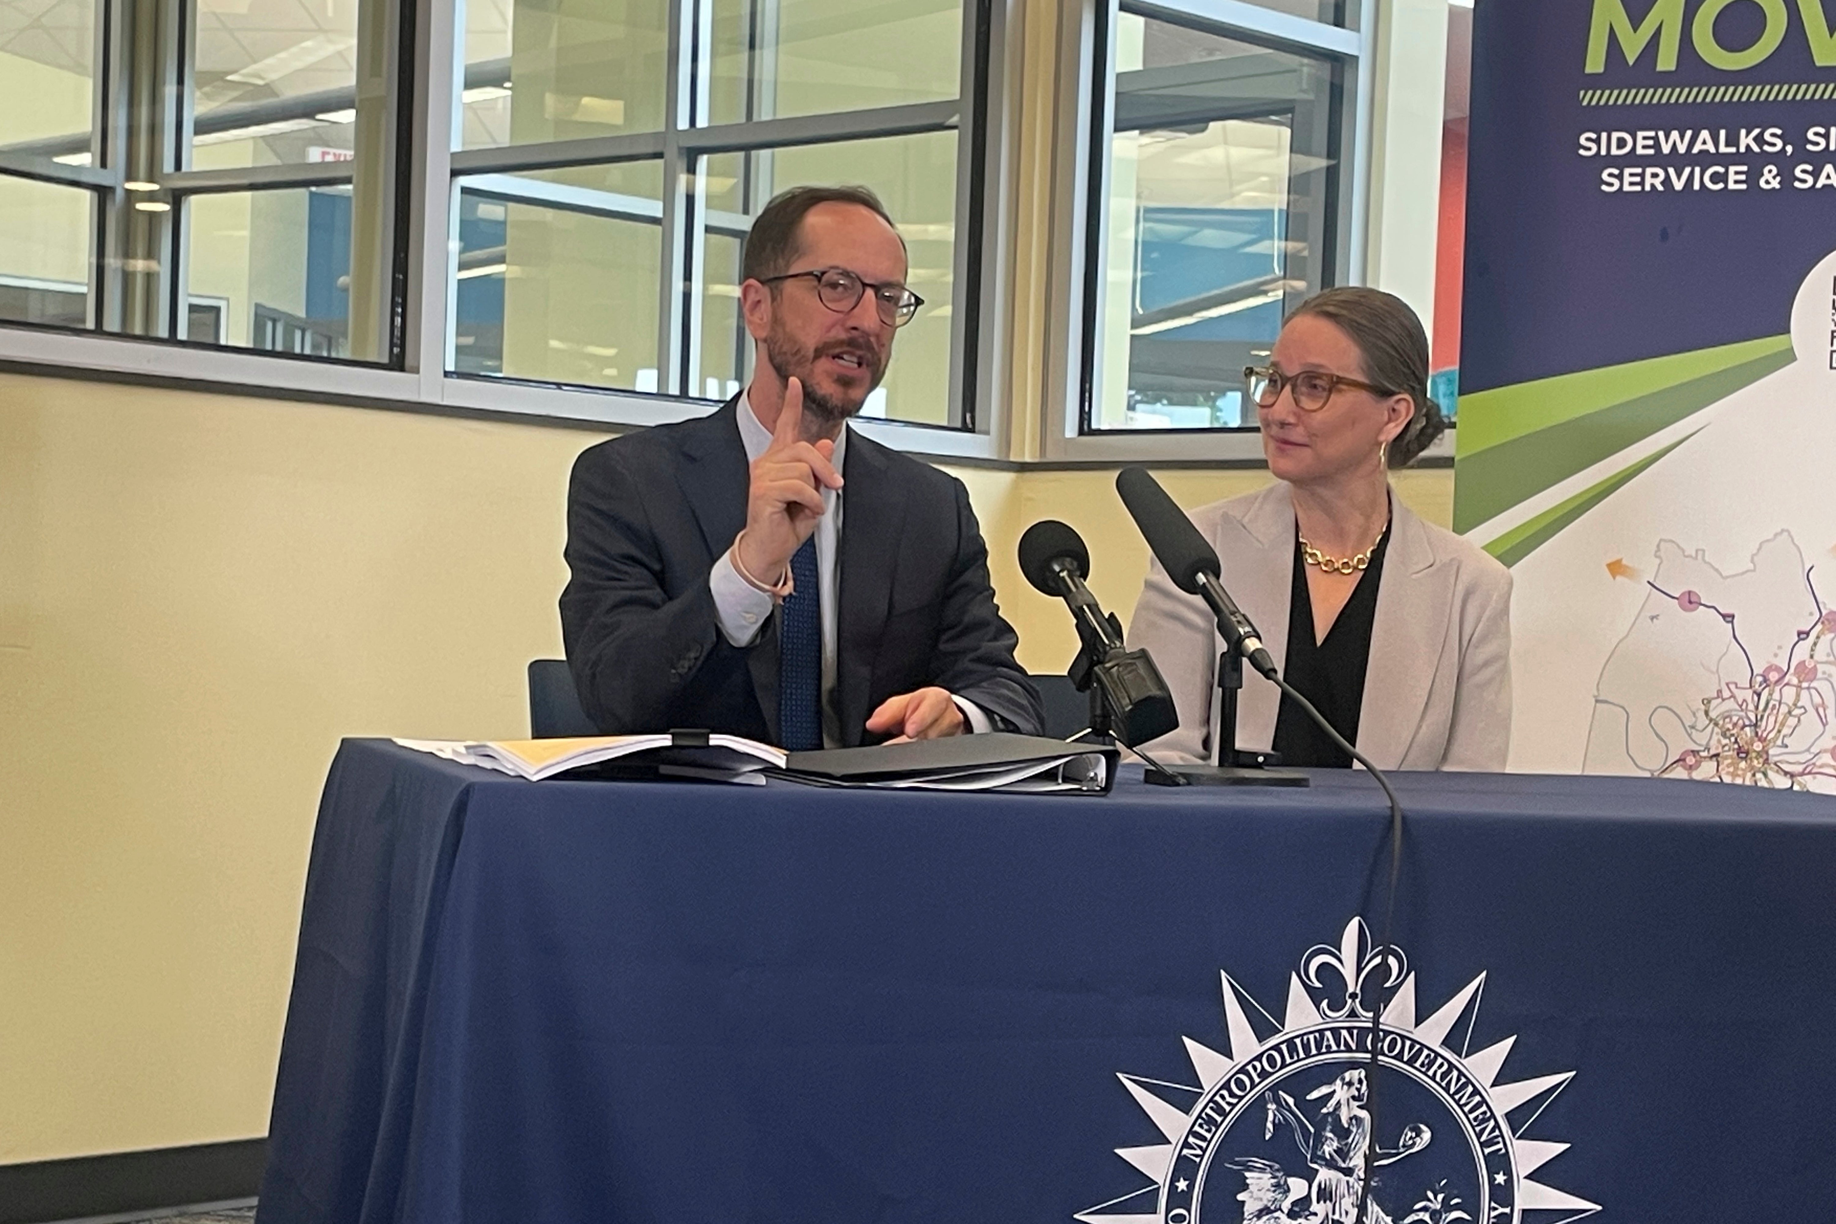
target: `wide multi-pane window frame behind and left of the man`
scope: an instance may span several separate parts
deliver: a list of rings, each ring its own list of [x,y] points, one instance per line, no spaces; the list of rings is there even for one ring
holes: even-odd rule
[[[123,294],[99,284],[105,259],[119,257],[121,217],[132,209],[125,193],[125,171],[101,169],[105,149],[121,139],[129,121],[123,72],[127,42],[121,6],[97,4],[95,106],[90,128],[88,167],[64,165],[44,158],[0,154],[0,172],[83,187],[95,198],[95,235],[90,259],[88,327],[61,328],[0,321],[0,369],[51,373],[64,376],[112,376],[160,385],[211,389],[224,393],[281,395],[286,398],[406,407],[485,415],[498,418],[547,418],[565,424],[610,429],[641,428],[685,420],[711,411],[711,402],[683,395],[683,374],[696,360],[696,336],[677,327],[694,310],[687,284],[677,284],[687,270],[683,242],[687,226],[674,224],[688,211],[688,193],[677,171],[711,152],[870,139],[916,132],[955,130],[957,209],[955,299],[951,312],[951,422],[947,426],[896,420],[857,420],[870,437],[914,453],[962,459],[1004,459],[1006,455],[1006,360],[1008,290],[1004,272],[1012,246],[1012,125],[1015,106],[1010,92],[1013,75],[1006,28],[1015,0],[964,0],[960,88],[957,99],[912,103],[870,110],[835,112],[808,117],[764,119],[714,127],[687,127],[688,81],[685,40],[694,37],[690,0],[668,4],[668,106],[670,123],[655,134],[556,141],[549,145],[505,145],[494,149],[453,149],[461,119],[455,88],[465,79],[465,0],[397,0],[391,6],[389,92],[395,110],[389,119],[395,165],[393,213],[397,240],[389,277],[393,303],[386,312],[391,343],[384,362],[312,358],[255,349],[231,349],[176,338],[184,301],[185,250],[184,226],[176,224],[184,202],[195,195],[312,187],[351,182],[353,163],[301,163],[250,167],[235,171],[176,171],[158,176],[162,196],[173,204],[163,213],[162,250],[169,251],[162,268],[160,303],[163,327],[171,336],[143,338],[103,330],[119,325]],[[167,81],[189,66],[189,26],[180,20],[184,0],[162,6],[162,72]],[[185,6],[185,11],[189,7]],[[167,149],[189,139],[189,92],[182,94],[184,114],[176,132],[167,134]],[[173,156],[171,152],[167,156]],[[665,167],[663,251],[659,277],[659,374],[666,382],[659,393],[593,389],[542,384],[503,376],[450,373],[452,317],[455,299],[453,250],[463,178],[516,169],[582,165],[608,160],[657,158]],[[494,193],[496,195],[496,193]],[[114,314],[110,314],[114,312]],[[668,358],[666,363],[663,358]]]

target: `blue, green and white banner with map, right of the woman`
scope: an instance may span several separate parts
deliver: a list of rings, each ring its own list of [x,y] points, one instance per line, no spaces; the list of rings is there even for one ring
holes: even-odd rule
[[[1513,769],[1836,793],[1832,24],[1474,11],[1454,527],[1517,584]]]

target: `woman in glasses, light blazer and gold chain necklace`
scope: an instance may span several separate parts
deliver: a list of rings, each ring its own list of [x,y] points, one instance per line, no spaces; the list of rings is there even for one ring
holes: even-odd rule
[[[1401,299],[1333,288],[1245,371],[1276,483],[1192,512],[1282,677],[1379,769],[1504,769],[1511,738],[1511,573],[1397,501],[1388,470],[1447,428],[1428,338]],[[1129,624],[1173,690],[1179,729],[1146,749],[1217,758],[1217,655],[1204,602],[1155,562]],[[1291,697],[1245,668],[1239,749],[1349,765]]]

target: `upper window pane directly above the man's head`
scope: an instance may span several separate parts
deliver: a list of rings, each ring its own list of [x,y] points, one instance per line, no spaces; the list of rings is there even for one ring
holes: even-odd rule
[[[960,94],[962,0],[711,0],[705,123]]]

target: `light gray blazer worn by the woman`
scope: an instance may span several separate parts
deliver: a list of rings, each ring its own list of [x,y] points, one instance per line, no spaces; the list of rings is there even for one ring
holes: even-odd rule
[[[1294,503],[1289,486],[1217,501],[1192,512],[1223,562],[1225,589],[1261,629],[1278,668],[1287,664],[1294,580]],[[1159,562],[1148,569],[1129,622],[1129,648],[1160,666],[1179,730],[1148,745],[1155,758],[1208,763],[1217,740],[1217,655],[1225,648],[1210,607],[1186,595]],[[1282,690],[1243,668],[1237,747],[1267,751]],[[1416,517],[1390,494],[1370,668],[1359,707],[1359,752],[1379,769],[1502,771],[1511,741],[1511,571],[1460,536]]]

